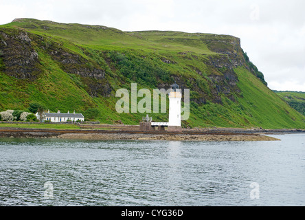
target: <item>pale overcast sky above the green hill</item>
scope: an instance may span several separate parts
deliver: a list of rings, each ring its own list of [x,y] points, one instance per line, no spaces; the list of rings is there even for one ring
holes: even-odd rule
[[[0,0],[0,24],[15,18],[105,25],[123,31],[229,34],[270,89],[305,91],[305,1]]]

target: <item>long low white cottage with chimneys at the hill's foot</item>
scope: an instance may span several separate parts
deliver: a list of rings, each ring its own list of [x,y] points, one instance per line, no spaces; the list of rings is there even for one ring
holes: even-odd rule
[[[39,115],[36,113],[36,117],[39,120]],[[47,111],[47,113],[43,114],[43,121],[49,121],[49,122],[67,122],[67,120],[76,122],[76,121],[84,121],[84,115],[82,113],[60,113],[58,110],[57,113],[50,113]]]

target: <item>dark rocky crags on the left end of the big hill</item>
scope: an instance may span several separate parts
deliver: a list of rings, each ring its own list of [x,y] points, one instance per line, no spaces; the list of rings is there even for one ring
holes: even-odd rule
[[[94,61],[89,61],[44,36],[23,30],[0,30],[0,58],[3,72],[8,76],[20,80],[37,80],[45,73],[38,52],[52,58],[63,72],[80,76],[91,96],[109,96],[111,93],[111,85],[104,70]]]

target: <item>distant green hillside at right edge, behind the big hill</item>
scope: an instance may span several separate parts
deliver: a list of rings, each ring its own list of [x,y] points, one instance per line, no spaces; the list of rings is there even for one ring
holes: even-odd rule
[[[293,109],[305,115],[305,92],[302,91],[274,91]]]

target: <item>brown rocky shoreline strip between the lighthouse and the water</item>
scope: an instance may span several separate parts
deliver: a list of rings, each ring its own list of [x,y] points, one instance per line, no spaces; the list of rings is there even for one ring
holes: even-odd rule
[[[0,137],[41,137],[74,140],[177,140],[177,141],[274,141],[268,134],[304,133],[298,130],[245,130],[245,129],[184,129],[169,131],[98,130],[98,129],[21,129],[0,128]]]

